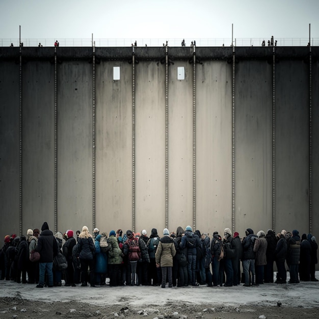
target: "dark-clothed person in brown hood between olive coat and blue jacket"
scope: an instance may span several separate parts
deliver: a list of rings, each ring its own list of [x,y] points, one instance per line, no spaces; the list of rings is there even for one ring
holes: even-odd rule
[[[176,237],[174,238],[174,245],[176,254],[173,257],[173,285],[174,278],[177,281],[177,287],[188,286],[188,272],[187,272],[187,248],[180,248],[181,238],[184,235],[184,229],[177,227]]]

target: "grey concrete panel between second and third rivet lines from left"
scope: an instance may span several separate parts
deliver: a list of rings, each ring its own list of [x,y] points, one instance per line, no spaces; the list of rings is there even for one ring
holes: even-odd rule
[[[92,64],[58,64],[58,230],[92,232]]]

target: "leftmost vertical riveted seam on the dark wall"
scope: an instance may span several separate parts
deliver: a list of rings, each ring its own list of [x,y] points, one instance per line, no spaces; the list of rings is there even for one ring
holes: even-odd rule
[[[19,48],[19,228],[22,234],[22,47]]]

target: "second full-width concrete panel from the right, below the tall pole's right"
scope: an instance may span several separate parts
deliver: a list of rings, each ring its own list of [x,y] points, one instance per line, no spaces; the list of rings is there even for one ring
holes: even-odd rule
[[[272,65],[235,65],[235,229],[272,228]]]

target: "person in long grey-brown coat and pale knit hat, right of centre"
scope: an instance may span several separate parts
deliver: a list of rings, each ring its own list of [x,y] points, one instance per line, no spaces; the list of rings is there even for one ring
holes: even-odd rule
[[[263,230],[257,232],[257,237],[254,244],[255,255],[255,271],[256,271],[256,284],[263,284],[264,266],[267,264],[267,240],[266,234]]]

